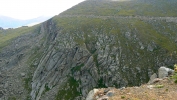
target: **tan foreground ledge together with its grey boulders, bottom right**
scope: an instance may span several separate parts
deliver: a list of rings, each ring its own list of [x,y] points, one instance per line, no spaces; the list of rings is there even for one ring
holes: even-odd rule
[[[89,92],[86,100],[176,100],[177,84],[171,78],[172,76],[168,74],[168,77],[159,78],[160,75],[167,75],[170,72],[173,70],[161,67],[158,78],[154,74],[147,84],[139,87],[94,89]]]

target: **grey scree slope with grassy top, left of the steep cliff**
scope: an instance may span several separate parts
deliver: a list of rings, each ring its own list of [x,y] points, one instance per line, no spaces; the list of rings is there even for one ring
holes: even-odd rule
[[[18,98],[25,100],[28,96],[28,79],[33,73],[29,58],[35,56],[35,50],[40,45],[43,34],[40,27],[29,28],[30,31],[19,29],[7,29],[0,33],[0,91],[1,100],[13,100]],[[23,34],[18,36],[15,32],[20,30]],[[13,35],[10,32],[14,32]],[[9,35],[10,34],[10,35]],[[12,38],[12,37],[15,38]],[[16,37],[17,36],[17,37]],[[11,38],[8,41],[3,40]],[[2,47],[1,47],[2,46]],[[4,47],[5,46],[5,47]]]

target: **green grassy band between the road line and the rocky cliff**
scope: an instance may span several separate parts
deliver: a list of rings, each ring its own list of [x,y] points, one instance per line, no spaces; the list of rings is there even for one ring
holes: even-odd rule
[[[177,31],[177,25],[173,22],[167,23],[163,20],[144,21],[131,18],[60,18],[59,16],[55,17],[54,21],[58,23],[58,27],[62,29],[63,33],[71,33],[72,35],[75,35],[73,32],[81,32],[80,35],[83,35],[92,34],[92,31],[96,31],[98,33],[92,34],[93,36],[105,33],[107,35],[115,35],[117,40],[124,42],[128,40],[125,38],[126,31],[130,31],[136,33],[137,38],[143,42],[155,42],[161,48],[165,48],[168,51],[174,51],[177,49],[176,43],[174,42],[177,38],[177,34],[175,33]],[[79,36],[74,37],[79,44],[85,43],[86,39]]]

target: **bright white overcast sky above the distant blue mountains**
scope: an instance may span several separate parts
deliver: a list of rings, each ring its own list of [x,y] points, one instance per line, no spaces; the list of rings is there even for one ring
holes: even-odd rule
[[[0,0],[0,15],[16,19],[54,16],[85,0]]]

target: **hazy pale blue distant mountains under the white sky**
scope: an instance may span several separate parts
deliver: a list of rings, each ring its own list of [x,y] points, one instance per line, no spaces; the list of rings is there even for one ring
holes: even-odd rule
[[[19,19],[14,19],[6,16],[0,16],[0,27],[2,28],[17,28],[20,26],[27,26],[29,24],[33,23],[40,23],[43,22],[50,17],[38,17],[35,19],[29,19],[29,20],[19,20]]]

